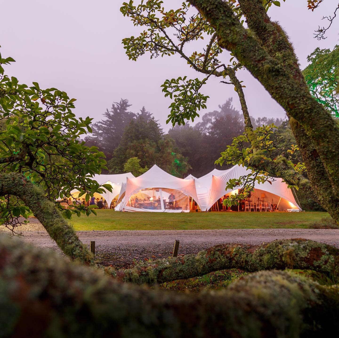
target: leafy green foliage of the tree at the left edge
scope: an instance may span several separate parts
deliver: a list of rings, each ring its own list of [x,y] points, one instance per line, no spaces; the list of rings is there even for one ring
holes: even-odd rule
[[[5,75],[3,66],[11,62],[0,55],[0,172],[23,174],[43,188],[48,199],[59,199],[56,205],[67,218],[72,213],[89,215],[94,210],[83,205],[65,210],[60,203],[73,189],[87,193],[86,199],[101,191],[91,177],[105,168],[104,154],[80,140],[92,131],[92,119],[76,118],[76,100],[66,92],[42,89],[37,82],[28,87]],[[13,229],[19,216],[28,214],[22,200],[0,196],[0,224]]]

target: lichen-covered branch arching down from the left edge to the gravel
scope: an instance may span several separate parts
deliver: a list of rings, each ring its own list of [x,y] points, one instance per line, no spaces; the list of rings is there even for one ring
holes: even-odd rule
[[[0,173],[0,196],[7,194],[19,197],[32,210],[65,255],[81,263],[94,264],[93,254],[82,244],[41,188],[21,174]]]

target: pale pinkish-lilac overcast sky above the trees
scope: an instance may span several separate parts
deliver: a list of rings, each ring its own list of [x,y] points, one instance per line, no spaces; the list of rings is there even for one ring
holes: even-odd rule
[[[164,98],[160,85],[165,79],[187,75],[200,77],[177,56],[150,60],[146,54],[137,62],[128,60],[121,40],[136,35],[141,28],[124,18],[119,11],[120,0],[0,0],[1,54],[17,62],[6,67],[6,73],[19,82],[39,82],[40,87],[57,87],[76,98],[78,117],[102,118],[106,107],[120,98],[129,99],[131,109],[142,106],[151,111],[164,130],[169,113],[169,98]],[[135,3],[139,1],[136,0]],[[164,0],[165,5],[180,6],[182,1]],[[322,16],[332,15],[336,0],[324,1],[313,13],[306,8],[306,0],[281,1],[272,6],[269,15],[279,21],[290,36],[301,67],[307,65],[307,55],[316,47],[333,48],[339,44],[339,18],[334,21],[327,39],[318,41],[313,31]],[[223,53],[227,63],[228,54]],[[246,70],[238,73],[245,82],[245,95],[254,117],[280,117],[283,109],[270,97],[261,84]],[[207,111],[218,108],[228,97],[234,106],[240,104],[232,86],[211,79],[202,90],[210,96]]]

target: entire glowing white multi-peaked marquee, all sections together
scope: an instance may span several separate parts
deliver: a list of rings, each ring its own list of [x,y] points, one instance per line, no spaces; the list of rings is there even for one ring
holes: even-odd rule
[[[238,190],[225,190],[231,178],[239,178],[251,173],[245,167],[235,165],[227,170],[214,169],[210,173],[196,178],[188,175],[181,179],[168,174],[154,165],[144,174],[134,177],[131,173],[117,175],[95,175],[99,184],[110,184],[112,192],[105,189],[102,194],[95,193],[95,198],[101,196],[111,205],[114,198],[118,199],[117,211],[148,211],[148,212],[189,212],[193,198],[201,211],[210,210],[211,207],[224,195],[236,194]],[[281,178],[275,178],[272,184],[255,183],[251,193],[252,202],[262,205],[271,203],[276,210],[301,210],[297,204],[292,190]],[[171,195],[172,194],[172,195]],[[82,200],[79,191],[73,190],[72,196]]]

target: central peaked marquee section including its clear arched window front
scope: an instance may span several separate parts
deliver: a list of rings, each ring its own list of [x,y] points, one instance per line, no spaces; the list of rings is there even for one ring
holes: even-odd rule
[[[170,194],[174,194],[171,202]],[[198,202],[195,179],[182,179],[154,165],[144,174],[127,178],[115,210],[148,212],[190,212],[192,197]]]

